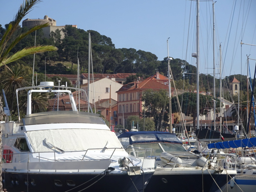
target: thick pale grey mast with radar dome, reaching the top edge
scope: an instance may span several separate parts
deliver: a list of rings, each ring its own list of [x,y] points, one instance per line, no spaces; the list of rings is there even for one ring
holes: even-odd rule
[[[199,0],[196,1],[196,128],[199,129]]]

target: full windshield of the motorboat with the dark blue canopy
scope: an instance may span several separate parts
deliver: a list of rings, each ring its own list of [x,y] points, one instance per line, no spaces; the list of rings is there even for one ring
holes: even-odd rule
[[[133,147],[133,149],[132,149]],[[145,152],[141,151],[140,148],[148,149],[146,152],[146,156],[160,156],[160,154],[164,151],[166,152],[176,152],[176,151],[187,151],[182,145],[180,144],[171,144],[171,143],[136,143],[132,146],[129,146],[125,150],[136,157],[144,157]],[[151,150],[152,149],[152,155]]]

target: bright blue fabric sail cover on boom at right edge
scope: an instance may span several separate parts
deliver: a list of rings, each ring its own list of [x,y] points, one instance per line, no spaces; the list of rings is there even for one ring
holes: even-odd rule
[[[217,148],[217,149],[225,149],[225,148],[238,148],[238,147],[254,147],[256,146],[256,137],[250,139],[241,139],[241,140],[233,140],[233,141],[224,141],[218,143],[210,143],[208,144],[208,148]]]

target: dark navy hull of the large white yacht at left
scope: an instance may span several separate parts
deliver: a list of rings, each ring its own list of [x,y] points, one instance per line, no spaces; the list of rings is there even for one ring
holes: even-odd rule
[[[128,174],[56,174],[3,172],[3,187],[7,191],[61,192],[68,191],[143,191],[153,173]],[[28,180],[28,182],[27,182]],[[31,182],[32,181],[32,182]],[[28,185],[27,185],[28,183]],[[145,185],[146,183],[146,185]],[[72,186],[73,185],[73,186]],[[80,186],[81,185],[81,186]],[[85,189],[86,188],[86,189]]]

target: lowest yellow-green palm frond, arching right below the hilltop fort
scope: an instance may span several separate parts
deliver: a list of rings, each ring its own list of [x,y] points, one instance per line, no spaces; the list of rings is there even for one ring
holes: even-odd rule
[[[43,53],[47,51],[57,51],[57,50],[58,50],[57,47],[54,47],[52,45],[44,45],[44,46],[41,45],[36,47],[24,48],[14,53],[12,56],[4,58],[4,60],[2,60],[2,62],[0,63],[0,67],[8,63],[11,63],[13,61],[19,60],[22,57],[25,57],[27,55],[31,55],[34,53]]]

